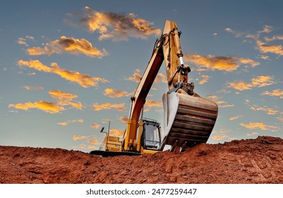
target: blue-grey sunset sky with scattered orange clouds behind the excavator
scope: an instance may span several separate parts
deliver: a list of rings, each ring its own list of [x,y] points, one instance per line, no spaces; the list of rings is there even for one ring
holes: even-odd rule
[[[282,1],[1,1],[0,145],[89,152],[123,136],[166,19],[218,104],[209,144],[283,138]],[[163,123],[164,64],[144,117]],[[110,122],[110,128],[109,128]]]

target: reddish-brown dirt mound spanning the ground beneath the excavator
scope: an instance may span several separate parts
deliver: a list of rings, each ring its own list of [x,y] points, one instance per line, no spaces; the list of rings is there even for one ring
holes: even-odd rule
[[[0,146],[0,183],[283,183],[282,158],[283,139],[270,136],[112,158]]]

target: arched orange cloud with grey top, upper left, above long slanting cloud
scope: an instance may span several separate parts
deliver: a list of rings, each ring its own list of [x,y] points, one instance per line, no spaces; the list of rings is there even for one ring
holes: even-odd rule
[[[45,43],[44,47],[30,47],[26,50],[29,55],[51,55],[51,54],[84,54],[88,57],[104,57],[107,55],[106,50],[97,50],[92,47],[91,42],[82,38],[81,40],[74,37],[61,36],[59,40],[53,40]]]

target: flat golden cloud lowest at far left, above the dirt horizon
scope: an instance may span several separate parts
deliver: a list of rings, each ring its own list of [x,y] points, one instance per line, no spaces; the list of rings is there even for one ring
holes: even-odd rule
[[[28,109],[38,109],[38,110],[43,110],[45,112],[49,113],[59,113],[62,110],[65,110],[64,107],[60,105],[56,105],[54,103],[46,102],[44,100],[40,100],[39,102],[35,103],[18,103],[18,104],[10,104],[8,107],[14,107],[19,110],[28,110]]]

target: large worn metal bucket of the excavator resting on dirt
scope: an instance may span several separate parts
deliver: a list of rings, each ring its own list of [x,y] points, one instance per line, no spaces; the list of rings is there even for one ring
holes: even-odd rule
[[[172,149],[176,146],[182,149],[206,143],[218,115],[216,103],[182,93],[165,93],[162,100],[165,124],[162,148],[171,145]]]

